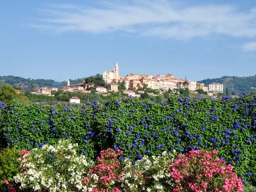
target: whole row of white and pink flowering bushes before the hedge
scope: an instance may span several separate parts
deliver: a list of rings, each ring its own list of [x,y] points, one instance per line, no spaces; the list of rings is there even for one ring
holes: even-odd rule
[[[21,151],[21,171],[14,177],[21,191],[243,191],[241,178],[232,171],[233,166],[216,157],[218,151],[195,150],[186,155],[163,151],[152,159],[144,156],[133,165],[123,159],[122,151],[111,148],[101,151],[95,163],[88,163],[85,156],[76,154],[76,146],[62,140],[55,146]]]

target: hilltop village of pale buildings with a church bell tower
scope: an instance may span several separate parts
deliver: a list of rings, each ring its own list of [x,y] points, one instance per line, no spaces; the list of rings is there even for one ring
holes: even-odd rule
[[[187,88],[192,91],[203,90],[208,93],[223,93],[223,84],[212,83],[207,86],[196,81],[177,79],[171,73],[166,75],[159,74],[156,76],[130,73],[126,76],[119,76],[119,66],[117,63],[114,64],[113,71],[106,70],[102,75],[103,80],[108,84],[109,88],[103,86],[94,87],[93,84],[85,84],[85,81],[80,84],[70,84],[70,81],[67,81],[67,85],[62,87],[40,87],[33,93],[38,95],[51,95],[52,91],[58,90],[62,90],[63,92],[90,93],[93,88],[99,93],[107,93],[108,91],[118,92],[118,86],[120,83],[125,86],[123,93],[127,93],[132,96],[136,96],[134,91],[141,89],[144,90],[145,88],[161,90],[162,92],[176,90],[179,88]]]

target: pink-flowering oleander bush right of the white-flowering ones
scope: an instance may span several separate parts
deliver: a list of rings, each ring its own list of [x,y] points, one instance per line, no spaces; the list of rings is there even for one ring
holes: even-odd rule
[[[215,150],[179,154],[168,169],[177,185],[174,192],[242,192],[241,178],[217,154]]]

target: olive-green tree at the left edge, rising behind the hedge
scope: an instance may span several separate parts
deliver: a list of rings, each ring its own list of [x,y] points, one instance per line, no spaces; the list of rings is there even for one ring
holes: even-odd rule
[[[24,105],[27,105],[29,103],[29,99],[23,95],[23,92],[17,94],[17,91],[11,85],[3,84],[0,89],[0,100],[8,103],[13,99],[21,101]]]

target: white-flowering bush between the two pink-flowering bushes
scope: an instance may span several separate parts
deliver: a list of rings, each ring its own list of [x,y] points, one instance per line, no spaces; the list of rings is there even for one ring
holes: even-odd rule
[[[134,165],[125,159],[125,169],[122,173],[123,192],[166,192],[174,188],[173,179],[168,167],[174,161],[174,154],[166,151],[161,156],[153,156],[152,160],[144,156]]]

